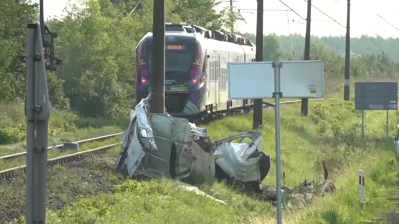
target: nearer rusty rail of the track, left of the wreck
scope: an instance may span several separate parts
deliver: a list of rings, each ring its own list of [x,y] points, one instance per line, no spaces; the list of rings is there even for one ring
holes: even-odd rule
[[[63,155],[60,157],[56,157],[56,158],[52,158],[52,159],[48,159],[47,160],[47,166],[51,167],[55,164],[61,164],[61,163],[66,163],[66,162],[70,162],[70,161],[74,161],[76,159],[82,159],[88,155],[96,155],[96,154],[101,154],[101,153],[105,153],[107,152],[109,149],[122,144],[122,142],[119,143],[114,143],[111,145],[105,145],[102,147],[98,147],[95,149],[89,149],[89,150],[85,150],[85,151],[80,151],[77,153],[73,153],[73,154],[69,154],[69,155]],[[16,173],[18,171],[24,171],[26,172],[26,165],[22,165],[19,167],[13,167],[10,169],[5,169],[0,171],[0,179],[7,179],[7,178],[12,178],[16,176]]]

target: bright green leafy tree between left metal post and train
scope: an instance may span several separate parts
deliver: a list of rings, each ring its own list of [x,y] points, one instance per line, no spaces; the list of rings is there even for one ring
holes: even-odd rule
[[[107,0],[89,0],[73,8],[59,29],[58,72],[71,107],[83,116],[117,119],[126,116],[134,99],[134,30],[132,18]]]

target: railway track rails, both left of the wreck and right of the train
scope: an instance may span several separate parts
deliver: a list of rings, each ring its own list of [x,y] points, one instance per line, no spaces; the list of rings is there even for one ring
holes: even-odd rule
[[[335,99],[335,98],[327,98],[327,99],[311,99],[309,101],[316,101],[316,100],[330,100],[330,99]],[[293,101],[285,101],[285,102],[280,102],[280,104],[294,104],[297,102],[301,102],[301,100],[293,100]],[[268,102],[263,102],[263,107],[266,108],[273,108],[275,106],[274,103],[268,103]],[[83,143],[88,143],[88,142],[93,142],[93,141],[105,141],[107,139],[113,138],[115,136],[118,136],[122,133],[116,133],[116,134],[111,134],[111,135],[107,135],[107,136],[101,136],[101,137],[97,137],[97,138],[91,138],[91,139],[86,139],[86,140],[80,140],[80,141],[75,141],[73,143],[78,143],[78,144],[83,144]],[[101,153],[105,153],[107,152],[109,149],[122,144],[122,142],[120,143],[115,143],[115,144],[111,144],[111,145],[106,145],[103,147],[99,147],[99,148],[95,148],[95,149],[90,149],[90,150],[86,150],[86,151],[81,151],[81,152],[77,152],[77,153],[73,153],[73,154],[69,154],[69,155],[63,155],[60,157],[56,157],[56,158],[52,158],[52,159],[48,159],[47,160],[47,165],[48,166],[52,166],[58,163],[65,163],[65,162],[69,162],[69,161],[73,161],[76,159],[81,159],[83,157],[86,157],[87,155],[92,155],[92,154],[101,154]],[[57,149],[62,149],[63,145],[55,145],[55,147],[57,147]],[[48,147],[47,149],[52,149],[52,147]],[[20,157],[26,155],[26,152],[22,152],[22,153],[16,153],[13,155],[6,155],[6,156],[2,156],[0,157],[0,159],[4,159],[4,160],[9,160],[9,159],[13,159],[16,157]],[[16,176],[16,173],[18,171],[24,171],[26,172],[26,165],[22,165],[19,167],[13,167],[10,169],[5,169],[0,171],[0,179],[6,179],[6,178],[12,178]]]

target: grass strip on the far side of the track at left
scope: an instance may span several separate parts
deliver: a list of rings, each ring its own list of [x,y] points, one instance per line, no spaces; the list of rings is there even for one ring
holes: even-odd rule
[[[26,151],[26,117],[24,102],[1,104],[0,156]],[[126,122],[110,122],[102,118],[81,118],[71,111],[51,108],[48,145],[79,141],[122,132]]]

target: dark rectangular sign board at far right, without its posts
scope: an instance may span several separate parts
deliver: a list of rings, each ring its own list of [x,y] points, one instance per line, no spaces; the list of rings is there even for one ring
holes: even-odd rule
[[[397,109],[397,83],[355,83],[355,110]]]

